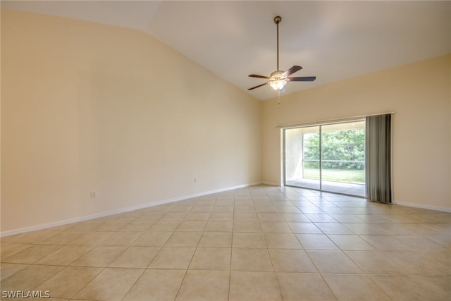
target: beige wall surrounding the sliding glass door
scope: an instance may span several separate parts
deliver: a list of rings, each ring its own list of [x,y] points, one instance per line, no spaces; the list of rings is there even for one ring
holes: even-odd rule
[[[281,182],[276,125],[395,111],[395,201],[450,210],[450,83],[448,55],[290,94],[282,97],[280,108],[276,99],[264,102],[264,182]]]

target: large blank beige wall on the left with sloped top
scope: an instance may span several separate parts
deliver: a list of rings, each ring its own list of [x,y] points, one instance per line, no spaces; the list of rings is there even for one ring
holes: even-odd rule
[[[3,232],[261,180],[260,102],[142,32],[3,10],[1,63]]]

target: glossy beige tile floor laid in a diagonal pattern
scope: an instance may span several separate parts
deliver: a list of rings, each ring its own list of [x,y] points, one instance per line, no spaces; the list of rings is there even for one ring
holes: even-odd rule
[[[450,255],[451,214],[257,185],[1,238],[1,291],[451,300]]]

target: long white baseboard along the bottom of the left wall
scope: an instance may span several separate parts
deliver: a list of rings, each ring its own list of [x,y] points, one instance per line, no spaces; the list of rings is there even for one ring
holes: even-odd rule
[[[88,216],[80,216],[80,217],[76,217],[74,219],[66,219],[66,220],[63,220],[63,221],[55,221],[53,223],[43,223],[43,224],[40,224],[40,225],[37,225],[37,226],[30,226],[30,227],[18,228],[18,229],[10,230],[10,231],[3,231],[3,232],[0,233],[0,237],[3,238],[3,237],[6,237],[6,236],[10,236],[10,235],[16,235],[16,234],[27,233],[27,232],[32,232],[32,231],[38,231],[38,230],[43,230],[43,229],[57,227],[57,226],[63,226],[63,225],[67,225],[68,223],[77,223],[79,221],[88,221],[90,219],[99,219],[101,217],[111,216],[111,215],[115,215],[115,214],[121,214],[121,213],[125,213],[125,212],[128,212],[128,211],[135,211],[135,210],[144,209],[144,208],[148,208],[148,207],[158,206],[158,205],[161,205],[161,204],[168,204],[168,203],[171,203],[171,202],[183,201],[184,199],[192,199],[194,197],[202,197],[204,195],[212,195],[212,194],[218,193],[218,192],[224,192],[224,191],[228,191],[228,190],[245,188],[245,187],[254,186],[254,185],[260,185],[260,184],[262,184],[262,183],[261,182],[249,183],[249,184],[242,184],[242,185],[237,185],[237,186],[228,187],[228,188],[221,188],[221,189],[216,189],[216,190],[209,190],[209,191],[204,191],[204,192],[198,192],[198,193],[194,193],[192,195],[184,195],[182,197],[173,197],[171,199],[163,199],[163,200],[161,200],[159,202],[140,204],[140,205],[133,206],[133,207],[127,207],[127,208],[117,209],[117,210],[113,210],[113,211],[105,211],[105,212],[102,212],[102,213],[99,213],[99,214],[92,214],[92,215],[88,215]]]

